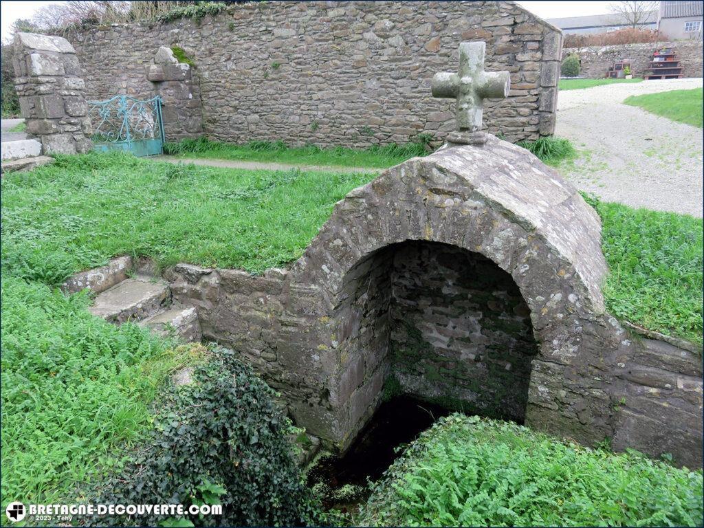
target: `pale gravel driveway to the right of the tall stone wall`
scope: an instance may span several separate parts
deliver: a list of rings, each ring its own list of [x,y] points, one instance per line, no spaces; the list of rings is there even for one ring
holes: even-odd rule
[[[701,79],[674,79],[560,92],[555,135],[581,154],[560,172],[605,201],[701,217],[702,129],[622,103],[630,95],[700,87]]]

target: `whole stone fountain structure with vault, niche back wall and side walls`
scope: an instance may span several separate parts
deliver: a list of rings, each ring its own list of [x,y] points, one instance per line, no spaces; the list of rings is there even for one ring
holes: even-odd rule
[[[393,375],[425,398],[701,465],[700,357],[605,312],[600,228],[557,172],[490,137],[351,191],[290,269],[167,278],[206,339],[240,351],[341,451]]]

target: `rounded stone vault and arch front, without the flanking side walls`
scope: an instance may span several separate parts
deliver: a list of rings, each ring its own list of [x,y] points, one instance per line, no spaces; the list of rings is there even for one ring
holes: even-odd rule
[[[585,342],[590,331],[613,330],[603,319],[607,268],[600,229],[574,187],[524,149],[496,138],[479,148],[415,158],[348,194],[292,270],[295,282],[320,284],[327,312],[337,320],[339,370],[329,377],[329,391],[339,420],[349,420],[344,429],[353,435],[363,427],[384,377],[382,363],[362,362],[351,339],[362,317],[346,305],[350,283],[358,280],[350,272],[386,246],[424,240],[480,253],[519,287],[540,346],[527,422],[570,436],[608,436],[610,402],[594,378],[612,362],[618,341]]]

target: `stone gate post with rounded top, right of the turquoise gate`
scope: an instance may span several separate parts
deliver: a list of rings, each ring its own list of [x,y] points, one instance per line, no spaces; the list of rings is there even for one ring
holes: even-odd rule
[[[180,63],[170,48],[161,46],[146,78],[161,96],[165,141],[203,133],[200,87],[191,65]]]

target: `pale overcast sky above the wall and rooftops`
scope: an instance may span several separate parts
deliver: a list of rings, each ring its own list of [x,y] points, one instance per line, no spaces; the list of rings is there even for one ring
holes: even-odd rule
[[[61,4],[61,1],[0,1],[0,38],[10,37],[10,27],[18,18],[32,18],[41,6]],[[528,11],[541,18],[562,18],[564,16],[603,15],[609,13],[610,1],[517,1]]]

